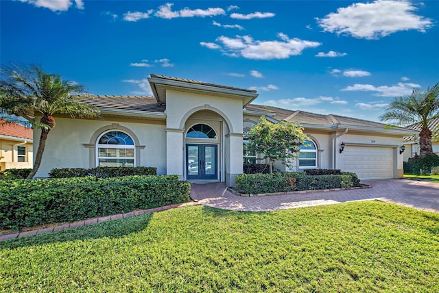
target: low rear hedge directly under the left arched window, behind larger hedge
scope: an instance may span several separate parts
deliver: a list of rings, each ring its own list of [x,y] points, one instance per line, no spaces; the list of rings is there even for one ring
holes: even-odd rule
[[[133,175],[157,175],[156,167],[97,167],[85,168],[55,168],[49,173],[50,178],[71,178],[71,177],[121,177]]]

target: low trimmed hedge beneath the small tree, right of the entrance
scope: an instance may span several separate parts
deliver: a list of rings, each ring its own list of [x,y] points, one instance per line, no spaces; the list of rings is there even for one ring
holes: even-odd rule
[[[305,175],[304,173],[243,174],[236,177],[235,189],[244,194],[322,190],[359,187],[355,173],[341,175]]]

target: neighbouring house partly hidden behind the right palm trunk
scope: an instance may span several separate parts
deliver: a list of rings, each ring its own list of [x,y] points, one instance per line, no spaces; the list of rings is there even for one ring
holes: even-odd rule
[[[414,123],[406,128],[416,131],[414,136],[404,137],[404,162],[407,162],[409,158],[419,155],[419,132],[420,123]],[[428,127],[431,130],[431,145],[433,146],[433,153],[439,155],[439,118],[431,119],[428,123]]]

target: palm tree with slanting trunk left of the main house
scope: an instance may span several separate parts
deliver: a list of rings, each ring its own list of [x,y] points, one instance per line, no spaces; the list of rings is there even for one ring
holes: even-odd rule
[[[5,114],[15,114],[29,120],[34,128],[41,129],[38,151],[34,168],[27,179],[32,179],[38,168],[45,149],[47,135],[55,127],[55,114],[66,114],[72,118],[78,116],[97,117],[97,107],[80,103],[77,94],[84,88],[72,81],[63,81],[60,75],[48,74],[38,66],[20,68],[4,67],[0,79],[0,108]],[[41,116],[37,122],[35,116]]]

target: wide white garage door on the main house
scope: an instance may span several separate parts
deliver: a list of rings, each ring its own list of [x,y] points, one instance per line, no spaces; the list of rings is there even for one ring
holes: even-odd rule
[[[346,146],[342,171],[357,173],[359,179],[393,178],[393,149],[377,146]]]

